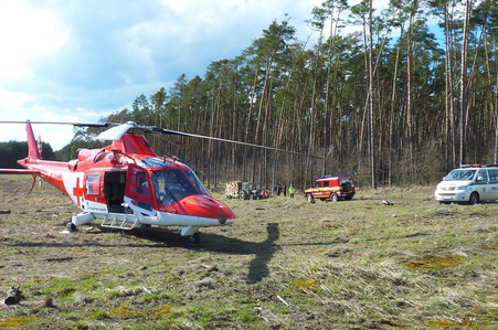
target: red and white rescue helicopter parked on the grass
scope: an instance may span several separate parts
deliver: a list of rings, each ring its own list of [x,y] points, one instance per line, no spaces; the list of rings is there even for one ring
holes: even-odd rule
[[[298,153],[129,121],[113,126],[97,136],[97,139],[110,140],[109,146],[80,149],[77,158],[70,162],[50,161],[41,159],[41,143],[36,141],[31,125],[52,123],[25,123],[29,151],[27,158],[18,160],[24,169],[0,169],[0,173],[32,174],[33,187],[39,177],[70,196],[82,212],[72,216],[66,232],[98,219],[100,226],[120,230],[150,225],[178,226],[182,236],[189,236],[191,243],[199,243],[200,227],[234,223],[232,210],[211,196],[188,166],[176,157],[157,156],[140,132],[173,134]],[[138,135],[135,134],[137,131]]]

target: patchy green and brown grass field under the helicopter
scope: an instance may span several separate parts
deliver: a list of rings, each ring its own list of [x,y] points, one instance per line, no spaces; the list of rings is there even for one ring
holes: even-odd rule
[[[71,201],[0,177],[0,328],[498,329],[498,203],[439,205],[434,187],[225,200],[232,226],[61,234]],[[393,205],[381,205],[382,200]]]

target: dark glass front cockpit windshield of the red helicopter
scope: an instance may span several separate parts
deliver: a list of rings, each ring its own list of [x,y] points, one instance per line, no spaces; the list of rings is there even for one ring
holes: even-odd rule
[[[152,181],[156,199],[159,204],[169,205],[192,194],[208,194],[209,192],[198,177],[190,170],[157,170]]]

